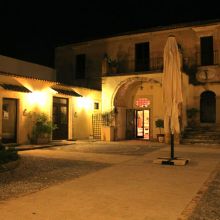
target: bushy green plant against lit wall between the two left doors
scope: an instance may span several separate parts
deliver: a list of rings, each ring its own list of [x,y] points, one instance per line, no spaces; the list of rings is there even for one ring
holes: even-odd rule
[[[56,128],[57,126],[49,120],[48,115],[45,113],[35,114],[31,142],[35,144],[49,143],[52,138],[52,131]]]

